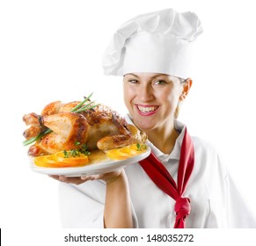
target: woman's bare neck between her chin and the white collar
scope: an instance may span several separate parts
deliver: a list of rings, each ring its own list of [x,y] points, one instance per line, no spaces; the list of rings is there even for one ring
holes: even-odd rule
[[[170,154],[174,148],[175,141],[179,134],[174,126],[164,127],[163,129],[153,129],[146,132],[150,142],[165,154]]]

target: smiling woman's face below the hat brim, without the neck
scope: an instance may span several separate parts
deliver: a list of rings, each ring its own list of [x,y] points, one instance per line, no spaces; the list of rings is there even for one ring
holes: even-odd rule
[[[127,74],[123,90],[125,105],[136,127],[149,132],[172,126],[183,91],[178,77],[153,73]]]

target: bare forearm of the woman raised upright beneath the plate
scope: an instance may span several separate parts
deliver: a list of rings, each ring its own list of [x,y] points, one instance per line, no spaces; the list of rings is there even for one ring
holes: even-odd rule
[[[128,180],[122,170],[114,181],[106,183],[105,228],[133,228]]]

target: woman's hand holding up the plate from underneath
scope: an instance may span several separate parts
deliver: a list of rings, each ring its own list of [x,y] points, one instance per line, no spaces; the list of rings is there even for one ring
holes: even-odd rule
[[[121,170],[115,170],[108,173],[102,173],[102,174],[95,174],[95,175],[88,175],[88,176],[82,176],[82,177],[66,177],[66,176],[59,176],[59,175],[49,175],[49,177],[53,177],[58,181],[67,183],[67,184],[74,184],[74,185],[81,185],[86,181],[89,180],[96,180],[96,179],[102,179],[107,184],[113,183],[115,180],[117,180],[121,175]]]

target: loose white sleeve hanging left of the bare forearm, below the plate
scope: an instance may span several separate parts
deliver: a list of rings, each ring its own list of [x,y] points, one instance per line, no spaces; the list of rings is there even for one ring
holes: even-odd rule
[[[104,228],[106,185],[88,181],[82,185],[60,183],[59,202],[63,228]]]

